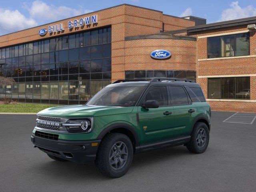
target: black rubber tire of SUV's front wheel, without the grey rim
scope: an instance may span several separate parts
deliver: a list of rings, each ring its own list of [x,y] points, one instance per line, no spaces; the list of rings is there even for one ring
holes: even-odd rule
[[[110,155],[113,153],[113,147],[118,142],[126,145],[126,152],[128,155],[126,156],[126,163],[123,165],[123,167],[120,167],[120,170],[115,170],[110,163]],[[126,172],[129,170],[132,164],[132,159],[133,146],[130,138],[121,133],[108,133],[100,142],[100,146],[96,154],[95,164],[104,176],[119,178],[126,174]]]

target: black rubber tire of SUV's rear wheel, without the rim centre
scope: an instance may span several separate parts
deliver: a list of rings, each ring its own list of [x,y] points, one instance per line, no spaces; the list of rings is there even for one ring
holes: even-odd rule
[[[205,131],[206,142],[204,143],[204,146],[200,147],[197,144],[197,136],[198,136],[199,130],[202,130],[202,129]],[[194,125],[194,128],[193,128],[192,133],[191,133],[190,142],[187,145],[188,150],[190,152],[198,153],[198,154],[205,152],[205,150],[206,150],[206,148],[208,147],[208,144],[209,144],[209,138],[210,137],[209,137],[208,126],[205,123],[203,123],[203,122],[197,122]]]

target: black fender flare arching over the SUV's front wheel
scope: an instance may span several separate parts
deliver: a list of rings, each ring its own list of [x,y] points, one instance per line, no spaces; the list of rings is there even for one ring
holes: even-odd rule
[[[124,128],[124,129],[130,131],[132,133],[132,135],[134,136],[136,146],[138,146],[138,144],[139,144],[139,137],[138,137],[137,132],[134,130],[134,127],[132,127],[131,125],[126,124],[126,123],[115,123],[115,124],[112,124],[112,125],[106,127],[98,135],[97,139],[102,139],[108,132],[110,132],[110,131],[112,131],[112,130],[114,130],[116,128]]]

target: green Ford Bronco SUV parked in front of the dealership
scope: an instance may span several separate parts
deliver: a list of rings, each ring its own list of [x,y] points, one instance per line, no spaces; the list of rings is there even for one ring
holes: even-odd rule
[[[102,174],[118,178],[137,153],[178,145],[203,153],[210,116],[197,83],[175,78],[118,80],[85,105],[40,111],[31,141],[54,160],[94,161]]]

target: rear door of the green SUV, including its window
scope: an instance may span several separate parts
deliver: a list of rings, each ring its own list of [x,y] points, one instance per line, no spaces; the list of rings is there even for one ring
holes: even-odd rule
[[[174,108],[173,136],[181,137],[190,134],[197,108],[192,103],[183,86],[169,86],[171,103]]]

